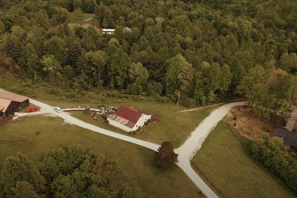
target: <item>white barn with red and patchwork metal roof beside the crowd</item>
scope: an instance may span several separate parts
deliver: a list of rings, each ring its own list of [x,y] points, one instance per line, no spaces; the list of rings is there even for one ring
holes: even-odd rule
[[[151,118],[151,114],[129,105],[121,105],[113,114],[107,116],[111,125],[124,131],[136,131],[144,122]]]

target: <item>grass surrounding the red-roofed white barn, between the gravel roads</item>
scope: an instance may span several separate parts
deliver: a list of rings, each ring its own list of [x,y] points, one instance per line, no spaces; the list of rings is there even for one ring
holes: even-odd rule
[[[59,106],[61,108],[78,108],[84,104],[79,103],[61,103],[53,101],[43,101],[49,105]],[[137,136],[129,135],[123,131],[120,131],[109,124],[103,123],[100,119],[95,121],[91,114],[84,114],[82,111],[71,112],[71,116],[79,118],[87,123],[94,124],[95,126],[105,128],[110,131],[119,132],[125,135],[133,136],[135,138],[151,141],[157,144],[161,144],[164,141],[173,141],[174,147],[179,147],[190,135],[190,133],[198,126],[198,124],[206,118],[209,113],[217,108],[209,107],[198,111],[191,112],[176,112],[176,106],[174,104],[157,104],[157,103],[121,103],[131,105],[135,108],[145,110],[151,114],[158,114],[161,116],[161,120],[156,124],[152,123],[149,126],[144,126],[143,131]],[[117,106],[121,104],[112,103],[105,105],[108,106]],[[85,104],[89,105],[90,108],[97,107],[97,104]],[[183,110],[184,108],[179,108]]]

